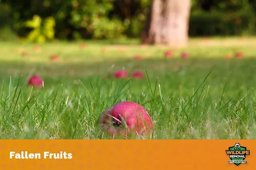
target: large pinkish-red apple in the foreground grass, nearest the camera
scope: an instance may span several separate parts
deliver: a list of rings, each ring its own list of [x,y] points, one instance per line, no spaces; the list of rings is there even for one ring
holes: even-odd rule
[[[102,131],[110,136],[148,135],[153,123],[147,111],[134,102],[120,102],[105,110],[98,119]]]

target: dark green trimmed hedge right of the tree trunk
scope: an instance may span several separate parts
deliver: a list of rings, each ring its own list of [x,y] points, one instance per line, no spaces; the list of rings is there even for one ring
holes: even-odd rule
[[[250,13],[198,13],[191,14],[189,35],[241,35],[255,34],[255,17]]]

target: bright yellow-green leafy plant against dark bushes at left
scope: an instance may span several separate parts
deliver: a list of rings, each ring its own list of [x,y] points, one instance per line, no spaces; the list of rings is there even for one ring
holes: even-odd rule
[[[55,20],[47,17],[43,22],[40,16],[34,15],[32,20],[24,23],[25,27],[32,28],[26,37],[29,42],[45,42],[54,39]]]

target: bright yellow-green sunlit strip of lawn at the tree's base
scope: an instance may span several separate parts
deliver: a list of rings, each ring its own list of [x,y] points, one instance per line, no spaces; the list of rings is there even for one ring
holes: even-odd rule
[[[49,57],[58,55],[57,63],[95,63],[110,60],[134,59],[135,55],[142,55],[145,59],[161,59],[166,50],[173,52],[175,58],[179,58],[183,51],[189,53],[191,58],[224,58],[225,54],[232,57],[236,51],[244,52],[246,58],[256,57],[255,37],[234,37],[209,39],[193,38],[189,40],[186,48],[169,48],[166,46],[139,45],[139,40],[117,41],[116,44],[109,44],[105,41],[87,41],[86,48],[80,47],[80,42],[52,42],[38,44],[40,51],[35,51],[37,44],[29,43],[3,43],[0,45],[0,60],[6,62],[31,62],[51,63]],[[125,45],[128,44],[128,45]],[[27,52],[28,56],[23,56]]]

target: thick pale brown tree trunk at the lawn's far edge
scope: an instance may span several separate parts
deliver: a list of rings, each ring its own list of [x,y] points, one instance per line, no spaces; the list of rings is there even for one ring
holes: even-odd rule
[[[142,43],[185,46],[190,7],[190,0],[152,0],[142,33]]]

